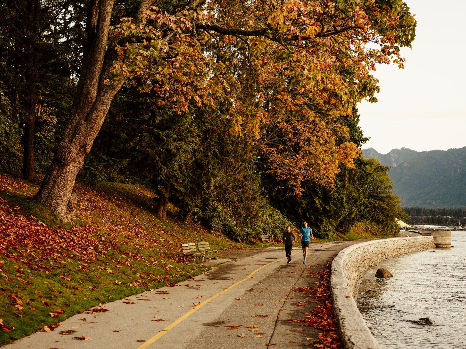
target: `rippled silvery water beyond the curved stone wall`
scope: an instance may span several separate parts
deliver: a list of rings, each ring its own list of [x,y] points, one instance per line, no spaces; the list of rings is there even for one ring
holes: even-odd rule
[[[357,306],[382,348],[466,348],[466,232],[452,232],[452,246],[392,258],[364,275]],[[377,268],[393,277],[377,279]],[[421,317],[435,325],[409,322]]]

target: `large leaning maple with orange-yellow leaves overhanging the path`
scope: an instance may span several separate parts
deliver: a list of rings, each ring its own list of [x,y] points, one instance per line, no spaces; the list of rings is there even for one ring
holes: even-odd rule
[[[411,45],[416,24],[400,0],[179,5],[165,12],[156,7],[162,1],[123,3],[119,11],[110,0],[86,4],[75,101],[36,195],[62,219],[73,218],[75,177],[123,83],[142,82],[176,113],[190,100],[224,103],[232,132],[259,135],[268,118],[292,112],[312,120],[322,108],[338,114],[373,101],[370,70],[402,67],[399,47]]]

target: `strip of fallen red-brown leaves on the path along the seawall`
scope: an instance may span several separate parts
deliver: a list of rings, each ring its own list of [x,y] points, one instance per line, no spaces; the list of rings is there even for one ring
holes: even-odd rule
[[[317,341],[306,343],[304,344],[305,346],[323,349],[343,349],[332,309],[329,287],[330,264],[331,261],[327,262],[322,270],[310,273],[311,277],[320,280],[314,282],[312,287],[294,288],[295,292],[304,292],[304,294],[307,294],[308,302],[315,304],[311,312],[305,313],[306,316],[303,319],[289,319],[287,322],[304,322],[309,327],[322,330],[322,332],[317,335]]]

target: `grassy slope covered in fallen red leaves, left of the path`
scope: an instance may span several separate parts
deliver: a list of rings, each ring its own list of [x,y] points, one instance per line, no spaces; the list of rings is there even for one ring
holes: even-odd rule
[[[202,226],[159,221],[153,194],[142,186],[76,185],[78,220],[66,228],[32,201],[37,189],[0,173],[0,345],[205,272],[182,262],[178,246],[186,239],[238,245]]]

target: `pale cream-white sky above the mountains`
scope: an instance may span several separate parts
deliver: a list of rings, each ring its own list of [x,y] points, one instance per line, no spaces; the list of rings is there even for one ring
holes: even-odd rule
[[[465,0],[405,0],[418,26],[404,69],[378,66],[378,103],[359,104],[363,148],[382,154],[466,146]]]

